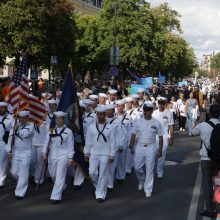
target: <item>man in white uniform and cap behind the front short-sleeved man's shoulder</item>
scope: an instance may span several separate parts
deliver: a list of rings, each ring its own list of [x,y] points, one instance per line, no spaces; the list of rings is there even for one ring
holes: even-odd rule
[[[168,109],[165,109],[167,99],[165,97],[158,97],[158,109],[153,112],[152,117],[157,119],[163,126],[163,154],[157,161],[157,177],[163,177],[163,168],[166,158],[168,145],[173,144],[173,114]],[[157,141],[157,145],[158,141]],[[158,146],[159,147],[159,146]]]

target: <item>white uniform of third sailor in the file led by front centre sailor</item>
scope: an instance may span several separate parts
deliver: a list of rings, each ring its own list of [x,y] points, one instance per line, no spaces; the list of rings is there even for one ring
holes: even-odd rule
[[[131,130],[133,125],[132,125],[131,116],[128,115],[127,113],[124,113],[124,115],[117,115],[117,118],[119,118],[121,121],[122,130],[125,135],[125,141],[122,146],[123,152],[120,152],[118,155],[118,166],[115,177],[118,180],[125,180],[128,143],[131,138]]]

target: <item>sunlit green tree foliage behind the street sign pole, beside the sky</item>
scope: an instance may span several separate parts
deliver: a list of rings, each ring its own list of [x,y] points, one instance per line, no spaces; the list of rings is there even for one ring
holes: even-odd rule
[[[138,3],[139,0],[105,0],[98,16],[92,20],[90,17],[77,19],[78,28],[84,32],[78,35],[76,45],[86,52],[85,56],[78,54],[78,57],[83,55],[80,65],[92,71],[97,68],[97,65],[91,66],[92,63],[98,64],[103,71],[108,69],[116,19],[116,45],[120,48],[122,73],[130,68],[137,73],[191,74],[195,55],[180,35],[179,14],[168,4],[151,8],[150,4]]]

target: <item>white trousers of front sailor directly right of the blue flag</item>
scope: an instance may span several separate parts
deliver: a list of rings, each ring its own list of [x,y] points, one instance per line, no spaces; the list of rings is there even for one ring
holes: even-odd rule
[[[89,175],[93,182],[96,199],[105,199],[109,174],[109,157],[91,155],[89,158]]]

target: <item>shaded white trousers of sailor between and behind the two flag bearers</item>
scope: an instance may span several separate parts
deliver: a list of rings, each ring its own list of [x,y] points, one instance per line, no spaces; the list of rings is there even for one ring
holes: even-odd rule
[[[32,146],[31,174],[32,176],[34,176],[35,183],[38,183],[40,180],[42,168],[43,168],[42,147]],[[40,184],[42,184],[43,181],[44,181],[44,173],[41,175]]]

